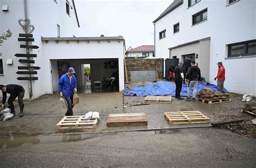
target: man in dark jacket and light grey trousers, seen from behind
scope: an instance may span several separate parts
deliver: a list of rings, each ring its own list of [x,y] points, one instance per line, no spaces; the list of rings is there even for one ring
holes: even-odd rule
[[[191,67],[187,71],[186,79],[188,79],[187,83],[187,101],[190,101],[191,96],[191,88],[193,88],[193,96],[192,101],[196,101],[197,95],[197,84],[201,79],[200,69],[196,66],[195,61],[191,61]]]

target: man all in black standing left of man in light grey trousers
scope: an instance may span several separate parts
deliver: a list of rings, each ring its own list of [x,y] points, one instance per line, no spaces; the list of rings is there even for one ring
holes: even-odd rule
[[[180,71],[181,65],[182,65],[182,62],[179,62],[178,66],[174,69],[174,81],[176,84],[175,98],[177,98],[178,100],[183,100],[183,98],[180,96],[182,83],[183,83],[183,78],[181,76],[181,71]]]

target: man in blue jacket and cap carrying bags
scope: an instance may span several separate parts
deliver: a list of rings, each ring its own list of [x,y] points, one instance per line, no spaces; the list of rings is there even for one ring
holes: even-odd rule
[[[68,73],[62,75],[59,79],[60,96],[64,96],[68,104],[68,110],[66,110],[65,116],[73,115],[73,95],[77,93],[77,79],[76,76],[73,75],[74,73],[76,73],[75,69],[70,67]]]

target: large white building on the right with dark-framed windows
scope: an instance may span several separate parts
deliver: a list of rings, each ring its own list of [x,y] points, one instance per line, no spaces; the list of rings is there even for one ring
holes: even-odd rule
[[[221,61],[229,92],[256,95],[255,11],[254,0],[175,0],[153,21],[155,55],[192,55],[211,83]]]

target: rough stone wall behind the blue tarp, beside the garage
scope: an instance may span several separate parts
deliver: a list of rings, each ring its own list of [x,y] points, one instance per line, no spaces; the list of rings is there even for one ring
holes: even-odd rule
[[[156,71],[157,67],[157,74],[158,79],[163,79],[163,58],[157,59],[143,59],[143,58],[125,58],[126,62],[126,71],[128,82],[131,81],[131,71]],[[125,69],[124,69],[125,71]],[[126,82],[126,75],[124,72],[124,78]]]

